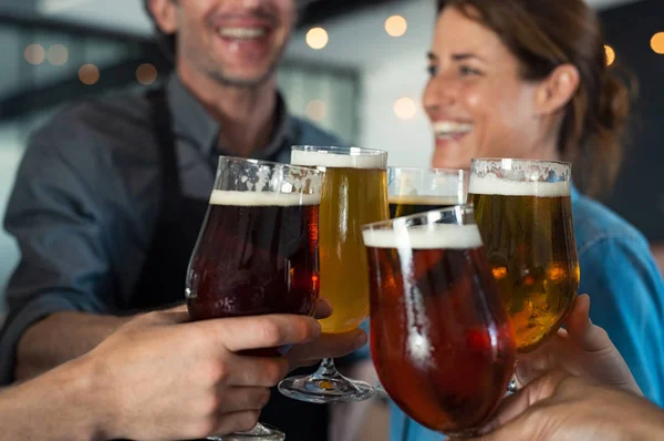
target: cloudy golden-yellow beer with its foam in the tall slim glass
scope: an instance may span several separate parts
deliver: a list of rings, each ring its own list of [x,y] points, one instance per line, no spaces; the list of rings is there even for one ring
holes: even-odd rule
[[[319,222],[320,296],[334,311],[321,320],[323,332],[349,331],[369,317],[362,226],[388,218],[386,162],[387,153],[381,151],[292,151],[292,164],[325,170]]]

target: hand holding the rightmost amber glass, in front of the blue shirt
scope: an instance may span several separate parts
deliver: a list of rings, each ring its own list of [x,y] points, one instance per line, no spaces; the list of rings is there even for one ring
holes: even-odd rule
[[[519,356],[517,380],[525,386],[542,375],[562,370],[577,377],[642,396],[630,368],[606,331],[589,317],[590,297],[579,296],[566,321],[543,346]]]

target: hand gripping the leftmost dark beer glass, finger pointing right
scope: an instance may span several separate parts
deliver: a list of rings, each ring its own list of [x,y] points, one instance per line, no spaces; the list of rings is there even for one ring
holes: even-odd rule
[[[139,316],[81,359],[105,439],[172,440],[251,429],[289,360],[242,356],[320,337],[312,317],[188,322],[185,307]]]

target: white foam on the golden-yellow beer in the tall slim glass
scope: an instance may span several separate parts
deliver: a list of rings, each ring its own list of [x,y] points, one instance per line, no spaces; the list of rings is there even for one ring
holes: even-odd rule
[[[330,168],[376,170],[387,167],[387,153],[378,151],[372,151],[371,153],[362,152],[361,148],[357,148],[355,152],[351,150],[350,154],[344,155],[325,151],[293,150],[291,152],[291,164]]]

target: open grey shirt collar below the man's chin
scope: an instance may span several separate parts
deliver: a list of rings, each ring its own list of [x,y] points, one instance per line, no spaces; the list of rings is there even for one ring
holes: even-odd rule
[[[172,74],[166,84],[168,107],[173,115],[173,131],[176,137],[184,137],[194,143],[206,154],[216,154],[219,134],[222,127],[207,109],[187,90],[177,74]],[[262,160],[274,156],[290,146],[290,140],[294,137],[295,124],[289,115],[286,102],[280,93],[277,93],[277,124],[268,146],[252,155]],[[219,154],[225,151],[224,146],[217,148]]]

